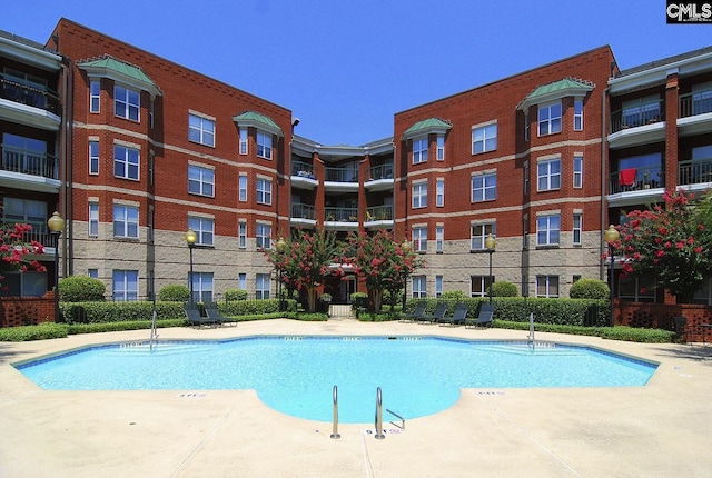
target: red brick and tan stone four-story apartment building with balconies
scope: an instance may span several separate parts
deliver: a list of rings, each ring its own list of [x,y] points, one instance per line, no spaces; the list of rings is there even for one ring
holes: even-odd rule
[[[0,37],[0,67],[3,219],[46,235],[58,209],[61,276],[97,277],[115,300],[187,283],[188,228],[196,295],[269,297],[259,249],[317,227],[411,239],[427,256],[412,297],[485,295],[490,233],[494,280],[567,297],[606,278],[609,223],[665,188],[712,185],[712,49],[621,71],[597,48],[397,112],[392,137],[353,147],[299,137],[289,109],[67,19],[43,48]],[[17,171],[38,141],[48,166]],[[327,290],[347,301],[358,287]]]

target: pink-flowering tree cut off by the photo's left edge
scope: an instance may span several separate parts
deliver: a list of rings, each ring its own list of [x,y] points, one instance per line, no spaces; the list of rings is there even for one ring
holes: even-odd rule
[[[27,240],[26,236],[31,230],[32,226],[26,223],[0,226],[0,287],[3,287],[6,272],[47,270],[37,260],[27,258],[29,255],[44,253],[40,242]]]

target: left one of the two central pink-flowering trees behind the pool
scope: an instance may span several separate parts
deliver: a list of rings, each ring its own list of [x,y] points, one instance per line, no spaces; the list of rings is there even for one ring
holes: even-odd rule
[[[338,273],[329,269],[338,257],[336,236],[324,230],[312,233],[299,229],[284,241],[281,250],[275,247],[265,249],[264,253],[275,267],[277,280],[281,279],[287,289],[306,290],[309,312],[314,312],[318,288],[328,276]]]

